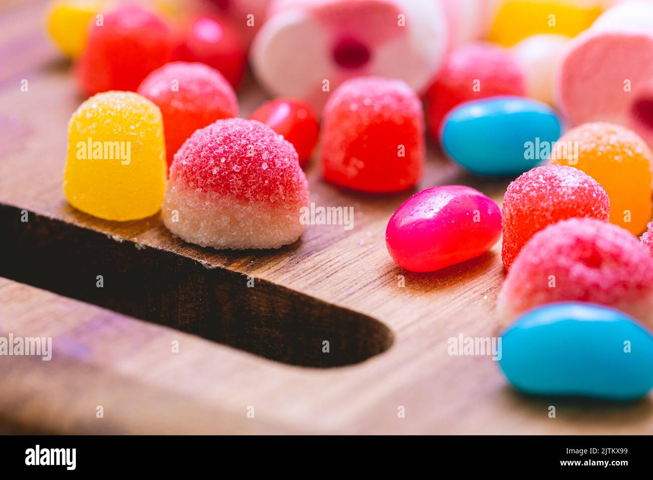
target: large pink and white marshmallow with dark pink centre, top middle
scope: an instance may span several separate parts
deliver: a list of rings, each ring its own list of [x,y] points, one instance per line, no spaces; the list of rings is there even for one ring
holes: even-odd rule
[[[424,91],[448,44],[440,1],[273,0],[251,62],[271,93],[319,108],[357,76],[398,78]]]

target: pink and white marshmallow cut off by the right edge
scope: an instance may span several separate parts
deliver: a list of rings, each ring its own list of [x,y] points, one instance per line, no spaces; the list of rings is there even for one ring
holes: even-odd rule
[[[573,125],[620,123],[653,145],[653,2],[619,3],[572,40],[556,101]]]

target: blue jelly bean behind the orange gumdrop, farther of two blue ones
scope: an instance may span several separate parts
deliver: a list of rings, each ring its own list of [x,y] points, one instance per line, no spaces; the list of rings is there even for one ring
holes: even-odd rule
[[[478,175],[518,175],[548,159],[560,120],[544,103],[490,97],[458,105],[443,121],[447,155]]]

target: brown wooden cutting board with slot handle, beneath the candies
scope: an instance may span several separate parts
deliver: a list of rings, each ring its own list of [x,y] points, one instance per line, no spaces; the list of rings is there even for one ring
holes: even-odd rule
[[[529,398],[491,357],[447,353],[449,338],[498,334],[500,245],[440,272],[402,270],[384,232],[414,192],[342,191],[313,160],[311,202],[352,206],[353,229],[310,225],[274,251],[199,248],[158,216],[74,210],[61,177],[84,98],[42,34],[42,8],[0,7],[0,276],[12,279],[0,279],[0,336],[50,336],[53,357],[0,357],[0,431],[653,432],[653,396]],[[244,116],[265,99],[251,80],[239,95]],[[430,150],[419,189],[466,184],[500,201],[509,179],[469,176]]]

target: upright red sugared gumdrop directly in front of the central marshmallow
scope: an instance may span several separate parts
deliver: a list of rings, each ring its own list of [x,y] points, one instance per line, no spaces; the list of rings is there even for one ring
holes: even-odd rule
[[[424,168],[422,104],[402,80],[347,80],[323,113],[325,179],[369,193],[413,187]]]

